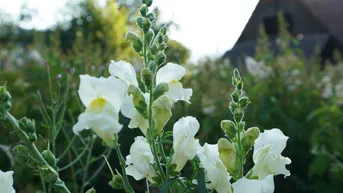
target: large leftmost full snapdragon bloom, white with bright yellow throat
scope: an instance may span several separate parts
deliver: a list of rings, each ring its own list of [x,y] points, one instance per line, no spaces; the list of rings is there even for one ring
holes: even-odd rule
[[[84,129],[93,129],[107,146],[114,147],[114,135],[122,129],[118,120],[125,85],[113,77],[80,75],[80,79],[79,96],[86,110],[73,131],[79,134]]]

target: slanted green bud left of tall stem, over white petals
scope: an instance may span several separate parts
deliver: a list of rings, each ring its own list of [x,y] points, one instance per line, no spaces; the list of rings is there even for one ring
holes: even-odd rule
[[[130,85],[129,89],[128,89],[128,94],[132,95],[133,98],[133,104],[136,108],[136,110],[143,115],[144,118],[148,117],[148,113],[147,113],[147,107],[148,105],[146,104],[145,98],[143,96],[142,91],[135,87],[134,85]]]

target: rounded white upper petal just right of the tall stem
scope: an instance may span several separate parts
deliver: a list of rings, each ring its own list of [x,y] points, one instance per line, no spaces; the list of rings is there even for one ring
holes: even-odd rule
[[[162,82],[169,83],[172,81],[179,81],[186,74],[184,67],[174,63],[167,63],[165,66],[157,71],[156,84]]]

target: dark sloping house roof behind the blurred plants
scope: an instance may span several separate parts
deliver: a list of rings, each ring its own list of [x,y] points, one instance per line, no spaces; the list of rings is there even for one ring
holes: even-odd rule
[[[242,55],[255,53],[258,27],[266,16],[286,11],[294,18],[293,35],[301,34],[299,48],[311,56],[314,48],[323,49],[329,42],[336,42],[343,50],[343,0],[260,0],[234,47],[223,57],[236,62]],[[271,50],[276,50],[275,36],[269,36]],[[275,49],[274,49],[275,48]]]

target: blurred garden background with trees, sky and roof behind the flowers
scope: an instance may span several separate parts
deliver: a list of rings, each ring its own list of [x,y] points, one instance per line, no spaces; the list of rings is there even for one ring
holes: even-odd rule
[[[283,156],[290,157],[291,176],[275,177],[276,193],[339,193],[343,182],[343,7],[341,0],[155,0],[154,29],[169,25],[168,61],[187,68],[183,79],[193,89],[192,104],[174,106],[172,123],[195,116],[201,143],[223,136],[220,121],[231,119],[231,72],[240,69],[250,97],[247,126],[280,128],[289,136]],[[12,113],[36,120],[43,142],[50,133],[42,115],[49,106],[47,67],[52,89],[64,96],[67,109],[57,138],[58,153],[71,140],[72,126],[82,112],[77,89],[79,74],[108,76],[110,60],[127,60],[139,71],[142,61],[126,42],[137,31],[139,0],[15,0],[0,3],[0,84],[7,82]],[[70,82],[70,71],[75,71]],[[37,95],[40,91],[42,100]],[[121,117],[124,125],[128,120]],[[120,141],[128,154],[138,129],[124,128]],[[17,192],[41,192],[39,176],[15,164],[11,148],[19,144],[9,129],[0,130],[0,169],[15,171]],[[75,152],[82,143],[75,143]],[[74,152],[74,153],[75,153]],[[98,141],[88,170],[98,192],[113,191],[100,159]],[[107,152],[108,153],[108,152]],[[69,154],[66,165],[77,156]],[[251,157],[251,155],[249,155]],[[108,154],[119,168],[114,153]],[[86,157],[84,157],[86,159]],[[81,164],[81,163],[80,163]],[[253,165],[247,161],[247,169]],[[98,168],[102,168],[98,172]],[[61,172],[72,192],[82,183],[81,170]],[[187,172],[187,170],[185,170]],[[143,192],[144,182],[134,182]],[[91,186],[90,186],[91,187]],[[343,188],[343,187],[342,187]]]

